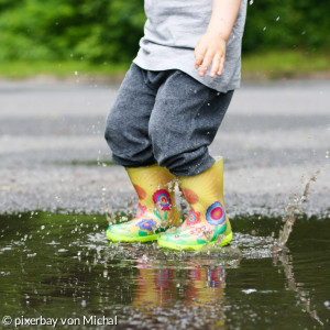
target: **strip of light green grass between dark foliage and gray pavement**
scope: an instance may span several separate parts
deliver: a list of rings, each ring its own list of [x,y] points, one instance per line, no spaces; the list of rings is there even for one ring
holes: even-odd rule
[[[122,78],[130,64],[89,64],[69,62],[0,62],[0,78],[24,79],[51,76],[63,79]],[[267,52],[242,57],[243,79],[280,79],[283,77],[310,77],[330,73],[330,54],[308,54],[302,51]]]

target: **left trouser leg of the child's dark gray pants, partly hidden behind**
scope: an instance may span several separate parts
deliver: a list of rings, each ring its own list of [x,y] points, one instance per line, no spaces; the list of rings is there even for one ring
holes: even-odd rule
[[[156,163],[148,138],[155,96],[145,84],[144,72],[132,64],[107,119],[105,138],[114,163],[128,167]]]

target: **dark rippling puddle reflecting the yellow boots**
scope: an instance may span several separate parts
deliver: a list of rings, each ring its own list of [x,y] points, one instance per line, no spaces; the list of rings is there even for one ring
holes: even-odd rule
[[[324,329],[330,221],[296,220],[282,253],[272,250],[282,219],[255,215],[232,219],[230,246],[196,254],[109,244],[103,216],[0,216],[0,319],[62,318],[72,324],[57,327],[67,329],[90,327],[86,320],[107,328],[116,316],[122,329]]]

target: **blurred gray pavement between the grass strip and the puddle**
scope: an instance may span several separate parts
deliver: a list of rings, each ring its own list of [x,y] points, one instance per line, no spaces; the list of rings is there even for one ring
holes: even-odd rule
[[[105,120],[117,86],[0,81],[0,213],[124,210],[134,191],[106,166]],[[304,210],[330,213],[330,82],[245,85],[211,146],[226,160],[230,216],[285,215],[310,186]]]

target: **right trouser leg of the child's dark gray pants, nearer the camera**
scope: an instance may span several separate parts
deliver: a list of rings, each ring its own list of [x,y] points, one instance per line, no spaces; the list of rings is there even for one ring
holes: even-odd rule
[[[148,128],[158,164],[179,176],[208,169],[215,163],[208,146],[232,95],[217,92],[179,70],[169,75],[158,89]]]

